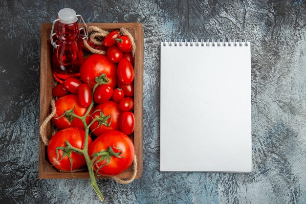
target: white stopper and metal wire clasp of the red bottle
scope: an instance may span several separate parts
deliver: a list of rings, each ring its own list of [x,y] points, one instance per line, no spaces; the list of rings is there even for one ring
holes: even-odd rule
[[[85,37],[83,37],[84,39],[88,39],[88,31],[87,31],[87,24],[85,23],[83,17],[81,15],[76,15],[76,12],[71,9],[71,8],[63,8],[59,11],[58,13],[59,18],[53,21],[52,24],[52,28],[51,28],[51,33],[50,33],[50,41],[51,41],[51,45],[53,45],[53,47],[56,49],[59,45],[57,45],[54,41],[53,41],[53,36],[56,35],[56,33],[53,33],[54,30],[54,25],[56,22],[61,21],[61,23],[65,23],[65,24],[71,24],[71,23],[75,23],[77,22],[79,19],[81,18],[81,21],[84,23],[85,28],[81,27],[79,28],[79,30],[83,30]]]

